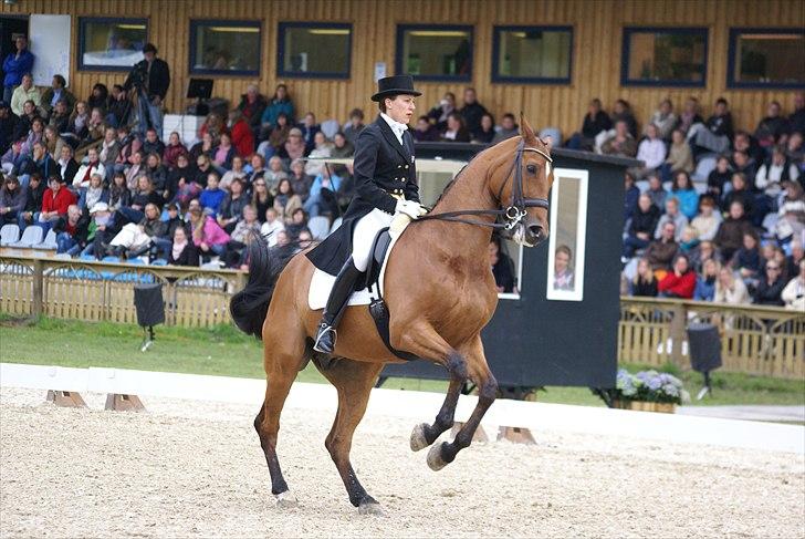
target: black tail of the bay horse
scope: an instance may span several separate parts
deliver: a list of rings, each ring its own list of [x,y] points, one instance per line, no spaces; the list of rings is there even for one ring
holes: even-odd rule
[[[261,339],[274,284],[285,263],[274,260],[260,234],[252,234],[248,249],[249,281],[243,290],[232,296],[229,312],[238,329]]]

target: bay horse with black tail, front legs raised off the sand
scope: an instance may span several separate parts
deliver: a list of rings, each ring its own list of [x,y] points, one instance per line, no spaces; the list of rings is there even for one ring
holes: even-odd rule
[[[550,141],[537,138],[521,115],[521,134],[478,154],[446,188],[431,213],[408,226],[389,257],[385,299],[390,313],[390,344],[443,366],[450,376],[433,423],[414,428],[411,449],[430,446],[452,426],[466,381],[479,390],[478,404],[453,442],[435,445],[428,453],[427,463],[433,470],[451,463],[470,445],[495,398],[498,382],[481,343],[481,329],[498,304],[488,246],[495,227],[505,228],[527,247],[547,238],[547,196],[553,184],[550,152]],[[296,502],[280,468],[276,440],[291,384],[313,360],[337,388],[338,410],[325,446],[349,501],[362,514],[380,512],[353,470],[349,449],[384,364],[402,360],[383,343],[367,305],[355,305],[341,321],[333,361],[322,361],[312,349],[321,312],[311,311],[307,303],[313,265],[300,253],[283,268],[271,260],[262,238],[252,240],[249,249],[249,281],[233,296],[230,309],[242,331],[263,341],[268,383],[254,428],[269,466],[272,494],[280,506]]]

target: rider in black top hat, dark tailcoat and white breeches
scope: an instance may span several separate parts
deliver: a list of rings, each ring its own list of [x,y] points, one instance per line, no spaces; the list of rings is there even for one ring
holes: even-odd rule
[[[355,143],[355,198],[343,225],[307,253],[316,268],[337,276],[313,345],[318,352],[333,353],[335,328],[366,271],[377,232],[390,227],[399,234],[407,221],[426,213],[419,204],[414,137],[408,131],[414,97],[421,93],[414,90],[409,75],[387,76],[377,85],[372,101],[378,103],[380,114]]]

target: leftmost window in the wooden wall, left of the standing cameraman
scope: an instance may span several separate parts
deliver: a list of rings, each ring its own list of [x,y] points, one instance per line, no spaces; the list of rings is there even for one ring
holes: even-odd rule
[[[79,70],[128,71],[143,60],[147,19],[79,19]]]

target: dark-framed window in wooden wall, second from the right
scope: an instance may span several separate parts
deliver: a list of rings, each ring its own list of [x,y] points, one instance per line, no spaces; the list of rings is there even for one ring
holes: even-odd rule
[[[620,83],[704,87],[707,58],[705,28],[625,28]]]

